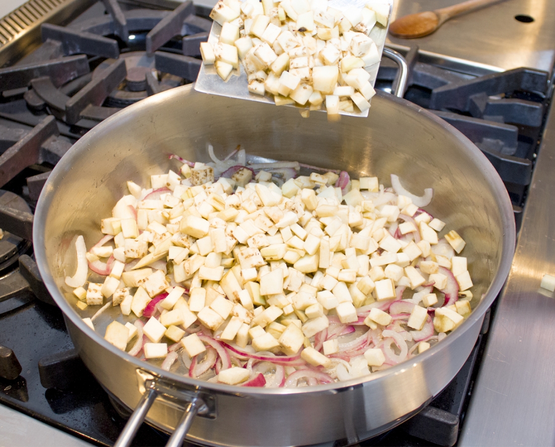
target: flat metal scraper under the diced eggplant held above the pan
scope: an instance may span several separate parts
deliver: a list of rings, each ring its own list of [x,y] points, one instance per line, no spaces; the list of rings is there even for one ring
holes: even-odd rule
[[[344,11],[346,8],[355,6],[363,8],[367,0],[330,0],[328,6],[331,8],[339,9],[339,11]],[[391,11],[393,6],[393,0],[384,0],[384,3],[389,4],[389,17],[387,24],[389,25],[391,19]],[[211,44],[218,43],[221,33],[220,24],[214,22],[212,29],[210,30],[210,35],[208,37],[208,42]],[[379,54],[381,55],[384,50],[385,38],[387,35],[387,27],[382,27],[379,24],[374,26],[370,32],[370,38],[376,43]],[[372,87],[376,82],[377,72],[380,67],[380,63],[375,63],[366,67],[366,71],[370,74],[370,83]],[[213,95],[229,96],[230,98],[246,99],[249,101],[258,101],[260,103],[274,104],[273,97],[268,94],[265,96],[260,96],[252,94],[248,90],[248,80],[247,74],[243,64],[239,63],[239,68],[231,73],[231,76],[224,82],[223,79],[219,77],[216,73],[214,65],[202,65],[198,78],[196,79],[195,90],[197,92],[209,93]],[[294,107],[295,105],[290,105]],[[368,110],[364,112],[355,111],[347,112],[340,111],[341,115],[351,115],[351,116],[368,116]]]

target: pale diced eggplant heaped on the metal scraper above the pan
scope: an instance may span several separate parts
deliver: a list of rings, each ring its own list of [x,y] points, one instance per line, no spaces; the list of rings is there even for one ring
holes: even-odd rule
[[[221,25],[218,43],[203,42],[200,51],[223,80],[240,60],[249,92],[273,95],[276,105],[364,112],[375,94],[365,68],[380,62],[385,40],[385,32],[376,34],[380,42],[370,35],[387,27],[389,14],[382,0],[344,11],[327,0],[220,0],[210,13]]]

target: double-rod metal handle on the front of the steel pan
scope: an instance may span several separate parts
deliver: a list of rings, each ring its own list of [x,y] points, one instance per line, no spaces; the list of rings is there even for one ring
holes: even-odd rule
[[[147,416],[148,410],[159,396],[186,403],[183,415],[173,434],[171,434],[166,447],[179,447],[183,444],[185,435],[197,414],[202,414],[206,417],[215,416],[214,401],[210,396],[205,397],[194,390],[176,389],[175,384],[166,384],[163,379],[154,377],[143,370],[137,370],[137,375],[139,377],[139,390],[143,395],[127,424],[125,424],[118,440],[115,441],[114,447],[129,447],[135,434],[137,434],[137,430]]]

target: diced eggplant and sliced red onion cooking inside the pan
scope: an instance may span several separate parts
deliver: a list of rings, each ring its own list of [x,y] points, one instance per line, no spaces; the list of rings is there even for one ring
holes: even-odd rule
[[[315,385],[409,359],[470,314],[465,241],[422,209],[432,190],[209,154],[128,181],[105,236],[77,237],[65,282],[82,311],[104,304],[93,329],[120,308],[104,338],[122,351],[211,382]]]

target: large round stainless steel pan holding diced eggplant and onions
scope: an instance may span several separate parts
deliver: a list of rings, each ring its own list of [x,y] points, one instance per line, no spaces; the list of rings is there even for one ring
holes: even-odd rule
[[[210,384],[119,351],[103,339],[116,313],[99,317],[93,332],[81,318],[96,309],[79,314],[64,286],[64,276],[74,272],[71,241],[78,234],[88,247],[98,241],[98,222],[124,194],[126,180],[145,184],[149,175],[168,170],[174,166],[170,153],[209,161],[208,142],[220,154],[240,144],[250,154],[377,175],[386,184],[393,172],[415,194],[433,187],[430,211],[467,241],[474,312],[444,341],[405,363],[304,389]],[[42,191],[33,236],[39,270],[75,347],[110,393],[128,408],[153,403],[147,420],[162,430],[173,431],[181,420],[175,445],[190,425],[188,438],[199,443],[257,446],[355,443],[428,403],[470,354],[508,274],[515,241],[511,202],[493,167],[465,136],[416,105],[378,94],[369,118],[331,123],[324,113],[302,119],[294,108],[200,94],[190,86],[132,105],[80,139]],[[186,407],[191,415],[184,415]],[[202,414],[193,418],[196,410]]]

